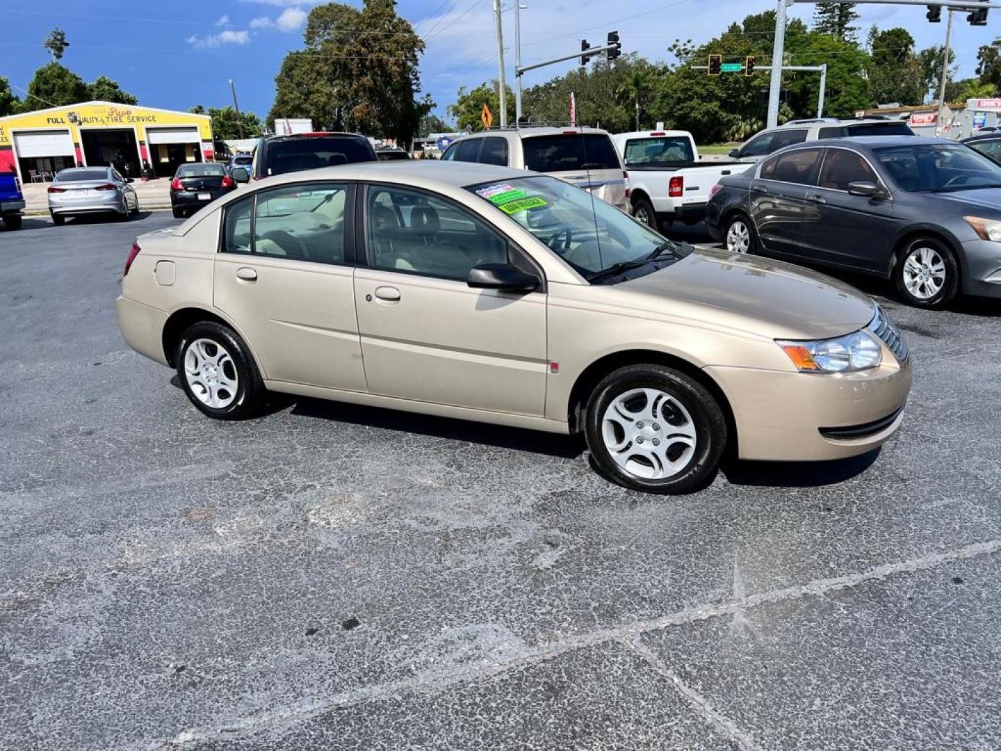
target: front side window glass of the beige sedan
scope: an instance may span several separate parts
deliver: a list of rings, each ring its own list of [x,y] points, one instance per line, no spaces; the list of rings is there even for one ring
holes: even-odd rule
[[[481,263],[507,263],[508,241],[451,201],[370,186],[368,261],[373,268],[465,281]]]

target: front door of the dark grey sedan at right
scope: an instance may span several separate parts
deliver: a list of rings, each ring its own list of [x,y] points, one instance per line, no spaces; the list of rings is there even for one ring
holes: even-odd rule
[[[890,193],[861,152],[843,146],[825,151],[817,184],[807,193],[818,218],[804,225],[804,245],[825,263],[884,269],[898,221],[893,218]],[[848,186],[853,182],[875,183],[881,194],[852,195]]]

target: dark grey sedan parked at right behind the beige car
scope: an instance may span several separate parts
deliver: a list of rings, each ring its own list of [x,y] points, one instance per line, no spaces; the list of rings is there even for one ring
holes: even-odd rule
[[[713,190],[706,225],[731,252],[883,276],[921,307],[1001,297],[1001,165],[960,143],[807,142]]]

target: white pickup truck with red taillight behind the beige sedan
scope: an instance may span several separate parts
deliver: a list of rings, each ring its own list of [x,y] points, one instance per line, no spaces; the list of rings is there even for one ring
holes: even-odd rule
[[[619,133],[612,140],[629,172],[633,215],[654,229],[662,221],[702,221],[713,185],[748,168],[735,161],[700,163],[687,130]]]

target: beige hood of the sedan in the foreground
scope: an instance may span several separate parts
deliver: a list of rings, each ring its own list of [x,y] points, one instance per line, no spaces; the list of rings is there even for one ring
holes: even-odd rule
[[[698,317],[771,338],[826,338],[858,330],[876,303],[844,282],[769,258],[698,248],[646,276],[617,284],[627,304]]]

